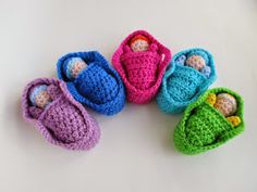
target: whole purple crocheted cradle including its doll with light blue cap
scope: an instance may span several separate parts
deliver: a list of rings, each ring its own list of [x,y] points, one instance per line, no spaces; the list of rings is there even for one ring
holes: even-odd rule
[[[41,100],[50,98],[50,102],[44,106],[40,102],[39,105],[34,103],[38,95]],[[52,144],[70,150],[89,150],[100,138],[98,124],[73,99],[63,81],[39,78],[29,82],[22,95],[22,111],[23,117],[34,123]]]

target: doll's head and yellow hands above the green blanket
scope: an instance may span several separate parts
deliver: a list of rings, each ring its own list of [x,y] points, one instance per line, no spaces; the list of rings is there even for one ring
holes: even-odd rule
[[[230,121],[234,127],[241,124],[241,118],[235,115],[237,110],[236,100],[233,95],[229,93],[210,93],[207,98],[207,102],[218,110],[228,121]]]

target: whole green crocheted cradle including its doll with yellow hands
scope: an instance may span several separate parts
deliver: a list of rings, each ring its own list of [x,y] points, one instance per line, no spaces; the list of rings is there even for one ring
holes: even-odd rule
[[[227,88],[207,90],[189,104],[174,130],[174,142],[185,154],[224,144],[244,131],[244,100]]]

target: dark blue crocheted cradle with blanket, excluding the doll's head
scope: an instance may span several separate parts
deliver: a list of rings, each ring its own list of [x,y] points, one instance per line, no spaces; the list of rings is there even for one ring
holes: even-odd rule
[[[63,72],[65,61],[71,57],[81,57],[88,65],[74,80]],[[69,53],[58,61],[57,72],[79,103],[106,115],[117,114],[123,108],[125,91],[121,77],[99,52]]]

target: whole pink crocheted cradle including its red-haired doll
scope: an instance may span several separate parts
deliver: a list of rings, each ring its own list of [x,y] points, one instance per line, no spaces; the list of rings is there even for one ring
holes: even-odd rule
[[[144,104],[160,87],[171,52],[145,30],[131,34],[112,56],[114,68],[126,88],[127,100]]]

